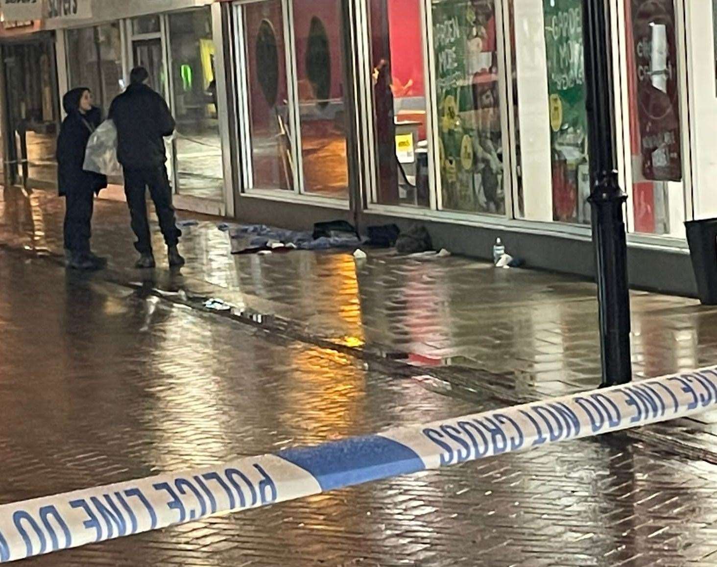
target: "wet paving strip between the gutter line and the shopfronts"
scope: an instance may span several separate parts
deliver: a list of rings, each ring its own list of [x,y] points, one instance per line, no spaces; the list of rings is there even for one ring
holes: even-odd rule
[[[36,191],[4,191],[0,245],[62,252],[62,200]],[[148,290],[217,297],[262,316],[290,336],[321,346],[418,366],[467,389],[488,389],[505,401],[592,389],[600,360],[594,285],[531,270],[494,270],[460,257],[417,259],[369,251],[232,255],[216,221],[183,227],[181,272],[132,270],[135,252],[124,204],[98,201],[93,243],[110,256],[96,277]],[[154,231],[162,254],[161,236]],[[159,259],[166,265],[166,259]],[[108,275],[109,274],[109,275]],[[632,357],[637,377],[660,376],[717,361],[717,308],[682,297],[632,293]],[[445,368],[442,368],[445,367]],[[481,373],[488,376],[480,379]],[[490,383],[489,383],[489,381]],[[713,452],[712,416],[680,422],[680,443]],[[655,431],[665,432],[664,426]],[[674,432],[673,429],[670,431]],[[670,433],[672,434],[672,433]],[[673,435],[674,437],[674,435]]]

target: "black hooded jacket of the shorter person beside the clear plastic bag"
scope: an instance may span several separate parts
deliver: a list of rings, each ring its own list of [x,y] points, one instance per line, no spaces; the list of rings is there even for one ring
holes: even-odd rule
[[[80,97],[85,88],[72,89],[62,97],[67,118],[62,121],[60,136],[57,138],[57,190],[60,195],[73,191],[99,193],[107,186],[107,178],[99,173],[85,171],[85,151],[90,135],[102,123],[102,111],[92,108],[80,113]]]

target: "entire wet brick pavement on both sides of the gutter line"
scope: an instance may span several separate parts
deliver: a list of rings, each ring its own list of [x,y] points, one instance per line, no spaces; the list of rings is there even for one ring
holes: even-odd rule
[[[231,257],[226,235],[204,224],[186,231],[190,266],[181,278],[158,270],[133,290],[127,284],[140,276],[125,269],[133,253],[120,205],[98,204],[97,249],[115,260],[87,278],[16,252],[57,252],[61,218],[44,194],[16,204],[0,203],[9,247],[0,252],[0,502],[587,389],[597,379],[592,286],[568,278],[385,253],[359,270],[346,254]],[[237,325],[153,292],[179,287],[295,323]],[[644,294],[635,303],[645,310],[636,315],[638,371],[714,362],[711,310]],[[300,332],[302,340],[292,338]],[[397,363],[362,359],[362,348],[463,357],[495,372],[493,380],[518,373],[505,398],[480,383],[435,393],[396,378]],[[467,371],[436,370],[470,386]],[[690,427],[654,431],[686,439]],[[709,425],[700,429],[708,442]],[[716,480],[709,464],[614,435],[27,564],[714,565]]]

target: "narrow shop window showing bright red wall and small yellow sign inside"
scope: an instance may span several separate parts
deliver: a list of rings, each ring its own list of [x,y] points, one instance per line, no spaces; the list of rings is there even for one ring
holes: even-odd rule
[[[420,0],[371,0],[373,127],[379,204],[430,204]]]

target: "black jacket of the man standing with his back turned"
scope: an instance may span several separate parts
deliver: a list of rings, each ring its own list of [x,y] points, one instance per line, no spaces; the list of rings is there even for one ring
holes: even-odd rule
[[[109,118],[117,126],[117,158],[125,168],[163,166],[163,137],[172,135],[176,124],[157,92],[147,85],[130,85],[113,100]]]

